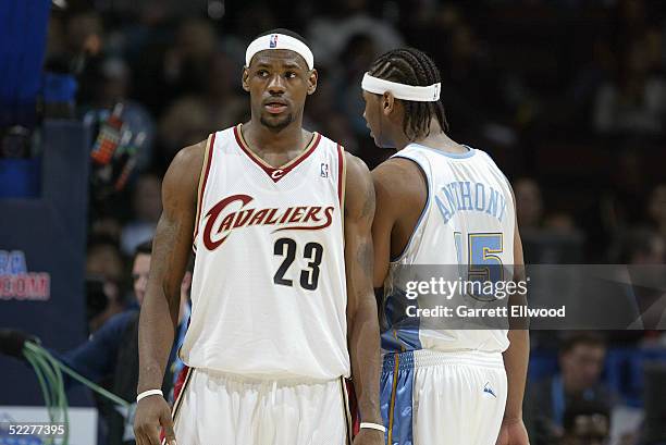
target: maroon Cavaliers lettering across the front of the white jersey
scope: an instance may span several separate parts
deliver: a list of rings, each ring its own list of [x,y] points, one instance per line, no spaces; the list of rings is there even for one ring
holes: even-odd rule
[[[252,225],[284,225],[275,228],[273,233],[281,231],[319,231],[326,228],[333,223],[335,208],[330,206],[322,209],[321,206],[287,207],[280,213],[281,209],[245,209],[255,198],[249,195],[232,195],[220,200],[208,213],[206,213],[206,226],[203,227],[202,240],[208,250],[214,250],[235,228],[250,227]],[[237,210],[225,213],[223,211],[233,202],[239,202]],[[321,214],[323,210],[323,215]],[[288,221],[287,221],[288,220]],[[323,221],[322,221],[323,220]],[[218,221],[220,225],[218,227]],[[309,224],[308,224],[309,223]],[[293,225],[300,224],[300,225]],[[224,236],[212,239],[213,234]]]

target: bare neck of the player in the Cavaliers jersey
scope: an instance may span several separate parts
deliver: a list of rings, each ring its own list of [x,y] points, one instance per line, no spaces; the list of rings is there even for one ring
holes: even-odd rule
[[[278,132],[250,120],[247,124],[243,124],[242,132],[244,139],[248,143],[252,151],[289,151],[293,150],[294,147],[305,148],[309,141],[309,133],[303,129],[301,120],[295,120]]]

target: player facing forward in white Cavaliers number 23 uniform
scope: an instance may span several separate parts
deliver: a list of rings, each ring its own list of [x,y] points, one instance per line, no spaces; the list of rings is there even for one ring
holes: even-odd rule
[[[246,52],[251,120],[183,149],[162,191],[139,329],[137,444],[384,443],[372,292],[368,169],[301,127],[317,71],[303,38],[275,29]],[[159,392],[178,286],[196,251],[188,371],[173,407]]]

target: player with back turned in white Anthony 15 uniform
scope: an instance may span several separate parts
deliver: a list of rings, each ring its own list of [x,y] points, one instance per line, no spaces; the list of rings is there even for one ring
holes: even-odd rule
[[[522,279],[508,181],[485,152],[446,136],[440,88],[436,66],[415,49],[383,54],[362,81],[375,144],[397,148],[372,172],[374,287],[383,293],[387,324],[380,390],[386,438],[390,445],[527,445],[528,331],[424,329],[424,320],[407,320],[397,309],[405,307],[406,275],[419,264],[464,264],[472,275],[495,261],[516,264],[514,280]]]

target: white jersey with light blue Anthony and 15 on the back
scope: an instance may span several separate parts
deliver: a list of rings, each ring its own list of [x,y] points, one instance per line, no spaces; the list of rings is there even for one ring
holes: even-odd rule
[[[423,326],[427,322],[422,318],[407,317],[404,309],[420,298],[406,299],[408,282],[419,282],[419,275],[435,269],[427,270],[428,265],[443,265],[439,270],[448,280],[469,281],[474,273],[483,273],[484,267],[501,263],[493,270],[504,272],[503,280],[513,279],[505,272],[513,271],[516,221],[508,181],[490,156],[471,148],[458,154],[410,144],[394,158],[410,159],[420,166],[428,181],[428,201],[407,246],[388,268],[383,305],[387,323],[382,333],[384,351],[504,351],[508,347],[505,329],[446,329],[444,318],[437,320],[436,329],[429,329]],[[469,307],[479,305],[468,295],[464,301]]]

